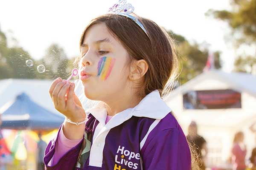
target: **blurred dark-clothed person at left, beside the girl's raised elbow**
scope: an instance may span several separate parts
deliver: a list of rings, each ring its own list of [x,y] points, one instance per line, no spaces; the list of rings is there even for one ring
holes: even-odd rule
[[[41,138],[41,133],[38,133],[38,170],[44,170],[44,151],[47,147],[47,143]]]

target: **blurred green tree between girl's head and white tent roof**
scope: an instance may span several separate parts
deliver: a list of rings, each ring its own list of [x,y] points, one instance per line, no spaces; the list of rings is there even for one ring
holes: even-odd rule
[[[168,31],[169,35],[177,44],[176,52],[180,60],[180,83],[183,84],[189,79],[201,74],[209,55],[208,48],[201,48],[198,43],[190,44],[185,37]],[[220,52],[214,52],[215,68],[221,68]]]

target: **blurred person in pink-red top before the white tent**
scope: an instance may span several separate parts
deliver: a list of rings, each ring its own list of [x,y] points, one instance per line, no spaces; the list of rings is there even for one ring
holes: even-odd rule
[[[244,133],[237,132],[234,136],[232,147],[233,170],[245,170],[246,146],[244,144]]]

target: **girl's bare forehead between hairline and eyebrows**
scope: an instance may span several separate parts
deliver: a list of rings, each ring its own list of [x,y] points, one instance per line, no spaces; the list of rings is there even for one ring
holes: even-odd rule
[[[85,34],[84,34],[84,41],[82,44],[90,45],[90,43],[95,43],[99,40],[105,40],[107,43],[110,43],[112,45],[118,44],[117,40],[108,30],[107,26],[104,23],[97,23],[92,26],[90,26]]]

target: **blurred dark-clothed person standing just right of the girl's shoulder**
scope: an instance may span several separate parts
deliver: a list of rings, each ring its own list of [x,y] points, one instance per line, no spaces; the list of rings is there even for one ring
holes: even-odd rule
[[[187,139],[198,154],[198,163],[201,170],[205,170],[205,161],[208,153],[207,142],[202,136],[198,135],[198,126],[195,121],[189,124]]]

